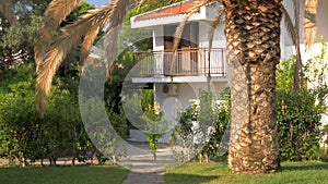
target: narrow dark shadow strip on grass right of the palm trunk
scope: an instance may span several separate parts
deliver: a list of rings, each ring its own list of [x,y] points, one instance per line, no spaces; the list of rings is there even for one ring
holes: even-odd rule
[[[300,162],[300,164],[286,163],[281,167],[281,171],[302,171],[302,170],[328,170],[328,162]]]

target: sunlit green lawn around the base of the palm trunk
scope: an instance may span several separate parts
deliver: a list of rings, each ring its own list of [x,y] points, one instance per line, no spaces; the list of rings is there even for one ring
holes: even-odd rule
[[[236,175],[223,163],[187,163],[165,173],[167,184],[319,184],[328,183],[328,163],[285,162],[273,174]]]

